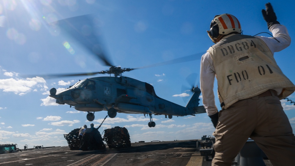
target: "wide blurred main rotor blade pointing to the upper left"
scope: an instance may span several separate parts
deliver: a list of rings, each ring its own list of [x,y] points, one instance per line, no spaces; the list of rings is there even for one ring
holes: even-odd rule
[[[104,52],[104,46],[99,40],[99,28],[97,21],[92,14],[71,17],[62,19],[57,22],[50,23],[51,26],[59,26],[63,29],[62,32],[68,33],[71,37],[77,40],[83,47],[94,54],[99,60],[102,60],[104,65],[113,66],[113,63],[107,58]]]

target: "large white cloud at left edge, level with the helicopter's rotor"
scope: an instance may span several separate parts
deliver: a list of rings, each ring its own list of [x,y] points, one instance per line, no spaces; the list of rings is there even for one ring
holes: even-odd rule
[[[3,89],[3,92],[13,92],[18,95],[24,95],[30,91],[36,85],[44,88],[46,81],[44,78],[35,77],[35,78],[9,78],[9,79],[0,79],[0,89]]]

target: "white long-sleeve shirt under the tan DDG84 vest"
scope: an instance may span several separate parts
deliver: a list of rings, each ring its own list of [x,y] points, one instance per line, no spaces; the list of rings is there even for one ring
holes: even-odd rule
[[[274,24],[270,27],[270,32],[272,32],[273,37],[262,37],[256,36],[263,40],[268,48],[271,50],[272,54],[274,52],[279,52],[291,44],[291,38],[289,36],[288,30],[284,25]],[[232,36],[235,34],[230,34],[223,39]],[[278,41],[279,42],[278,42]],[[201,58],[201,70],[200,70],[200,82],[201,82],[201,92],[203,95],[203,105],[206,109],[208,116],[217,113],[218,109],[215,105],[215,97],[213,91],[214,85],[214,78],[215,78],[215,69],[213,66],[213,60],[209,54],[206,52]],[[281,93],[280,88],[275,89],[278,94]]]

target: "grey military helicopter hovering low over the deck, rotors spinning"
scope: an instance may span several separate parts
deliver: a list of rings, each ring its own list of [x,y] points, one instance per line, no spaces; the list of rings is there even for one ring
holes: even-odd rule
[[[144,114],[150,116],[149,127],[155,127],[152,115],[165,115],[171,119],[173,116],[187,116],[205,113],[204,106],[199,106],[200,89],[198,86],[191,87],[191,96],[187,105],[180,106],[156,95],[154,87],[149,83],[133,78],[122,76],[122,73],[135,69],[163,65],[158,63],[141,68],[121,68],[112,65],[107,59],[101,45],[98,42],[97,33],[89,30],[85,33],[85,27],[95,27],[95,18],[89,15],[71,17],[51,24],[66,29],[66,32],[75,38],[82,46],[87,48],[93,55],[98,57],[104,65],[110,66],[109,70],[93,73],[74,73],[45,75],[45,78],[68,77],[81,75],[109,74],[110,76],[93,77],[80,80],[73,86],[57,94],[56,88],[50,89],[50,97],[56,99],[56,103],[68,104],[78,111],[86,111],[88,121],[94,120],[96,111],[107,111],[110,118],[116,117],[117,113]],[[87,30],[87,29],[86,29]],[[192,56],[193,57],[193,56]],[[179,62],[179,59],[177,60]],[[174,63],[170,61],[168,63]],[[165,63],[165,64],[168,64]],[[111,76],[111,75],[114,76]]]

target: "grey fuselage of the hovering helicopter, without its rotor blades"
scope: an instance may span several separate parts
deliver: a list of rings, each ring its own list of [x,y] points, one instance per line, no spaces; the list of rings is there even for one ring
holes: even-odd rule
[[[52,88],[50,97],[55,98],[58,104],[68,104],[78,111],[106,110],[110,117],[115,117],[117,112],[165,115],[169,118],[196,114],[196,108],[183,107],[160,98],[152,85],[124,76],[88,78],[55,93],[56,89]],[[195,107],[198,105],[194,104]]]

